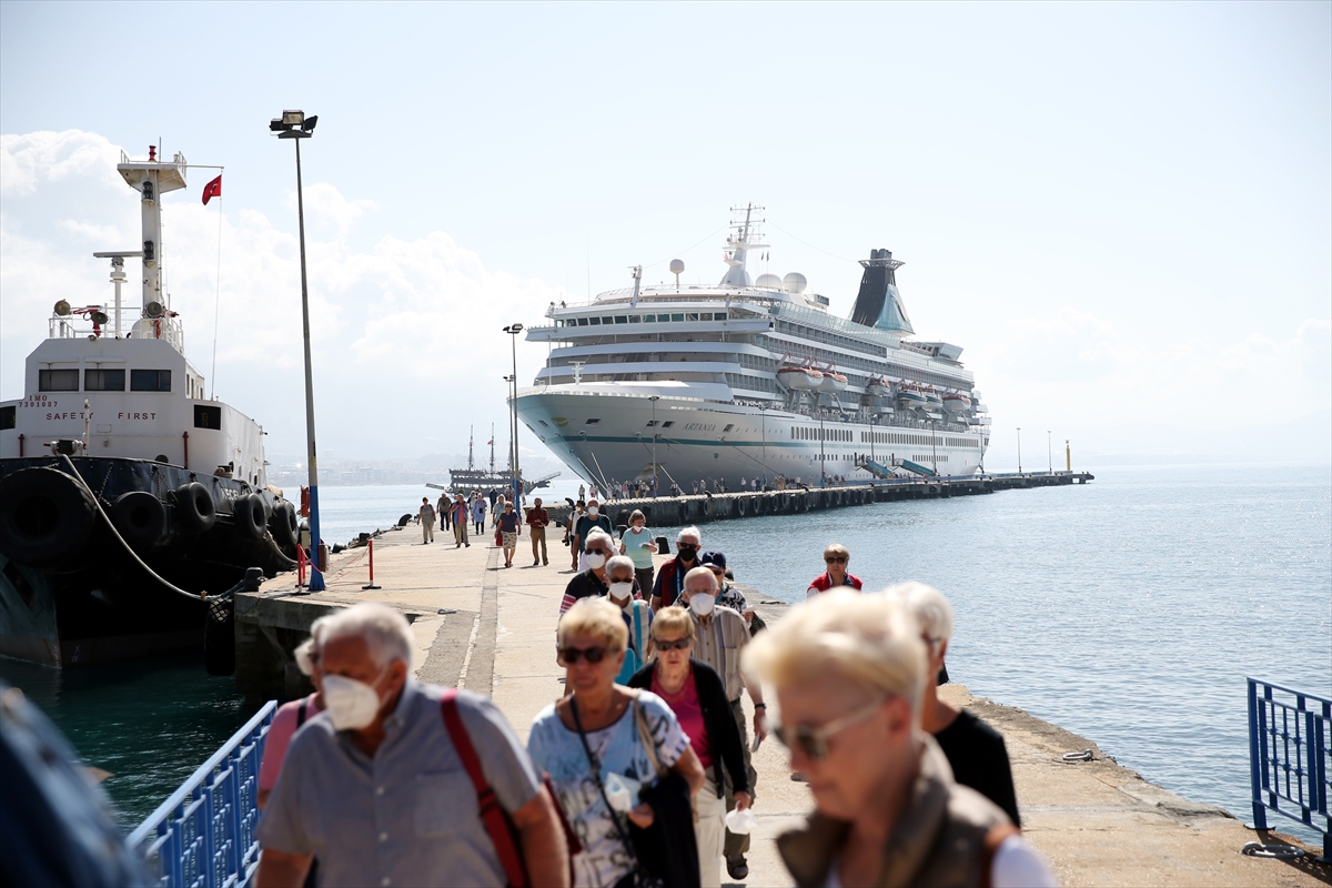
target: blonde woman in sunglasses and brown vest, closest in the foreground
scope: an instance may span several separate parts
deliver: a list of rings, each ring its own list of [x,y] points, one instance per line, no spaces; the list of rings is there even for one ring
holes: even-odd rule
[[[806,825],[778,839],[797,885],[1055,884],[919,728],[926,651],[899,600],[819,595],[761,632],[745,664],[775,688],[773,732],[814,795]]]

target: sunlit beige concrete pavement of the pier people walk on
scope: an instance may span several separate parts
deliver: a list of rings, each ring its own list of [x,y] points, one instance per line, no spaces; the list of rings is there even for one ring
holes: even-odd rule
[[[505,568],[501,550],[492,546],[493,534],[473,538],[470,549],[454,549],[452,534],[437,534],[437,542],[421,546],[417,527],[390,531],[374,550],[376,583],[382,588],[361,588],[369,582],[368,553],[348,550],[330,559],[324,592],[293,596],[294,580],[286,575],[265,583],[260,592],[238,596],[237,638],[249,622],[252,635],[294,646],[305,636],[300,626],[308,628],[329,608],[362,600],[389,604],[413,620],[417,678],[490,695],[526,740],[537,712],[563,694],[554,628],[573,574],[559,534],[551,530],[549,535],[554,538],[549,567],[529,566],[531,550],[523,537],[514,567]],[[743,575],[743,564],[737,570]],[[779,619],[782,610],[759,604],[769,622]],[[281,626],[256,630],[265,619]],[[241,663],[242,656],[238,650]],[[1064,885],[1332,884],[1332,868],[1312,861],[1317,849],[1307,848],[1312,855],[1291,861],[1244,856],[1240,849],[1248,841],[1293,840],[1255,833],[1221,808],[1167,792],[1108,759],[1095,742],[1022,710],[972,698],[960,684],[946,686],[942,694],[1003,734],[1023,833]],[[753,716],[747,698],[745,708]],[[1064,754],[1084,750],[1091,750],[1091,760],[1064,762]],[[754,767],[759,828],[746,881],[790,885],[774,839],[810,811],[809,789],[790,779],[786,754],[773,739],[755,754]],[[725,872],[722,880],[731,884]]]

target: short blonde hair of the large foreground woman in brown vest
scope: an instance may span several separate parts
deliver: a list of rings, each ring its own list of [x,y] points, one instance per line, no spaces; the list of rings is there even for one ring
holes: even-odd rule
[[[742,666],[777,686],[840,678],[920,712],[924,643],[915,618],[888,595],[835,588],[797,604],[745,647]]]

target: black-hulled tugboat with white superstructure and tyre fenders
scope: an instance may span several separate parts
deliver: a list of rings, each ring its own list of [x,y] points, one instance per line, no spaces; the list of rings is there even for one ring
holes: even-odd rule
[[[161,198],[185,188],[185,157],[121,152],[116,169],[141,249],[95,253],[113,304],[56,302],[24,395],[0,402],[0,655],[55,667],[201,648],[216,595],[296,567],[297,509],[266,485],[264,430],[205,397],[163,288]],[[121,304],[127,260],[139,306]]]

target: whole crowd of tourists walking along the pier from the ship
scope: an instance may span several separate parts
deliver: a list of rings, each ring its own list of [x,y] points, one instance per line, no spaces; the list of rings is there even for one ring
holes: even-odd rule
[[[831,543],[806,600],[769,626],[698,527],[663,560],[643,513],[617,537],[591,493],[566,529],[563,695],[526,744],[488,698],[412,678],[397,611],[316,620],[296,651],[316,691],[278,710],[260,774],[261,888],[746,880],[769,735],[813,801],[777,840],[797,885],[1055,884],[1022,837],[1003,738],[939,695],[943,594],[867,594]],[[485,518],[446,505],[464,527]],[[500,503],[506,560],[507,527],[543,537],[543,511]]]

